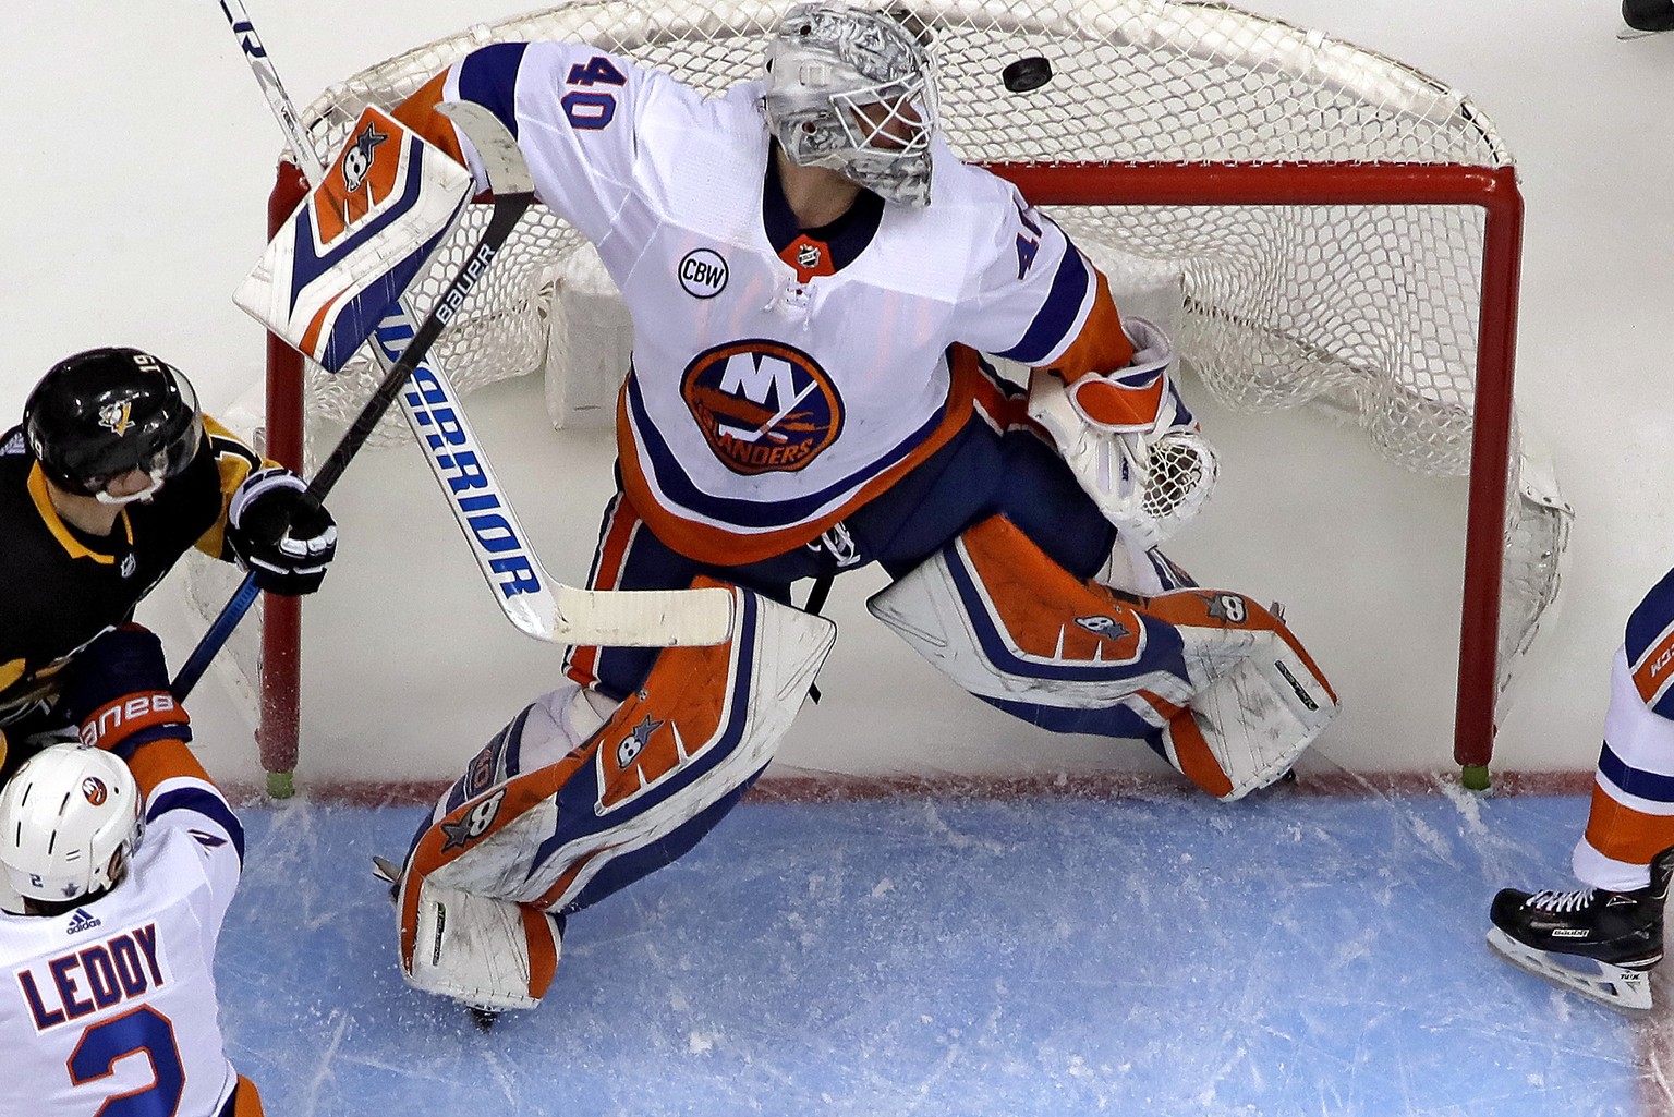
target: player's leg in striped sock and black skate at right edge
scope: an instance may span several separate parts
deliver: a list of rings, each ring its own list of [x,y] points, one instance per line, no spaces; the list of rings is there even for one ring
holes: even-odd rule
[[[1612,1008],[1651,1008],[1649,973],[1662,958],[1674,876],[1671,613],[1674,579],[1664,579],[1635,611],[1610,668],[1592,809],[1572,856],[1585,888],[1502,889],[1488,913],[1488,945],[1507,961]]]

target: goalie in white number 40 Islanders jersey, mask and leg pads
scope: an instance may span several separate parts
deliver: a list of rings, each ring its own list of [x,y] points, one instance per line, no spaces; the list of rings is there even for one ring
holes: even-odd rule
[[[790,8],[762,82],[705,99],[557,42],[469,54],[397,116],[474,169],[434,109],[487,107],[634,320],[599,589],[730,586],[716,648],[574,648],[398,872],[402,970],[532,1006],[564,919],[690,849],[738,800],[834,630],[797,579],[879,563],[872,613],[971,693],[1138,739],[1235,799],[1336,710],[1284,623],[1152,546],[1214,452],[1168,338],[937,131],[927,47],[889,15]],[[1036,370],[1026,394],[998,355]],[[1048,437],[1050,432],[1050,437]],[[1192,466],[1175,489],[1163,461]]]

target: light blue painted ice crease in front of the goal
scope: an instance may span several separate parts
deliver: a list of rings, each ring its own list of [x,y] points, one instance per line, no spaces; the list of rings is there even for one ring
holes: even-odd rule
[[[418,814],[243,811],[221,1003],[270,1114],[1639,1112],[1634,1028],[1483,946],[1582,799],[747,800],[490,1033],[395,970],[370,857]]]

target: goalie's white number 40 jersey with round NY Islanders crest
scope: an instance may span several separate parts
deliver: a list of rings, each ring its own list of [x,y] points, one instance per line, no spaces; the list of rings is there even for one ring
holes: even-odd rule
[[[400,116],[425,97],[494,111],[541,201],[598,248],[634,322],[623,482],[701,561],[800,546],[929,457],[971,415],[969,350],[1050,365],[1091,318],[1130,352],[1058,226],[939,139],[927,208],[862,196],[804,233],[767,172],[758,84],[705,99],[537,42],[467,55]]]

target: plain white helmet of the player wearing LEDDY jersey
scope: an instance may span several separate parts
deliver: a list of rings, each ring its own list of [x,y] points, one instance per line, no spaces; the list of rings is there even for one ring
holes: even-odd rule
[[[25,899],[62,904],[119,884],[144,829],[134,774],[90,745],[42,749],[0,790],[0,866]]]

